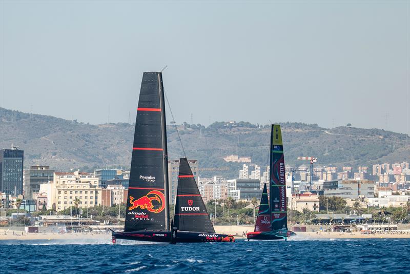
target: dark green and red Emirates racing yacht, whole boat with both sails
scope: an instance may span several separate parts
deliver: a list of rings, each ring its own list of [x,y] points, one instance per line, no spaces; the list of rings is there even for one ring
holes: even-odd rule
[[[269,194],[266,184],[263,186],[255,230],[248,232],[248,240],[280,240],[295,236],[288,230],[286,213],[286,181],[283,157],[282,133],[280,125],[272,125],[270,146]]]

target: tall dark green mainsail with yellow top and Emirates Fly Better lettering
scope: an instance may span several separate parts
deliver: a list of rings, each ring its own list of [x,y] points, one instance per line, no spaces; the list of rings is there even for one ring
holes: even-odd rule
[[[285,163],[280,125],[272,125],[270,164],[271,230],[287,229]]]

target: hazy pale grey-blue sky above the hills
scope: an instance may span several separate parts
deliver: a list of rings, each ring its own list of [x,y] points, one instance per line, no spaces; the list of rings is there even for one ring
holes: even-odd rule
[[[134,122],[142,72],[168,65],[177,123],[192,113],[204,125],[352,123],[410,133],[409,1],[0,8],[1,107],[93,124],[128,122],[131,112]]]

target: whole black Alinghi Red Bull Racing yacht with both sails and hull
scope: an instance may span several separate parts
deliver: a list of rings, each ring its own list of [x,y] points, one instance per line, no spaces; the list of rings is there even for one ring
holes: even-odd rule
[[[188,197],[192,194],[192,190],[184,188],[189,187],[190,184],[182,183],[181,179],[188,178],[194,184],[195,180],[193,177],[184,177],[192,175],[192,172],[186,159],[181,160],[181,163],[180,176],[182,177],[178,178],[180,181],[178,191],[182,193],[181,195],[185,195],[181,197]],[[196,184],[195,187],[196,192],[193,194],[199,195]],[[200,195],[198,197],[195,195],[190,200],[198,202],[200,200],[202,206],[199,208],[202,210],[205,208],[202,198]],[[182,201],[179,202],[181,203]],[[233,239],[232,236],[227,238],[228,235],[214,234],[215,231],[210,221],[209,224],[203,221],[204,216],[198,215],[190,218],[182,214],[198,211],[196,210],[198,205],[195,210],[190,210],[188,207],[186,212],[178,213],[176,229],[173,229],[171,233],[169,204],[167,131],[162,74],[161,72],[144,72],[135,122],[125,226],[124,231],[112,232],[112,242],[115,243],[116,239],[168,243],[217,242]],[[185,210],[185,207],[181,210]],[[201,212],[207,213],[206,209]],[[206,218],[209,220],[208,216]],[[192,226],[188,225],[190,222]],[[209,225],[212,230],[209,229]],[[190,228],[195,229],[190,230]],[[203,232],[179,231],[181,229]]]

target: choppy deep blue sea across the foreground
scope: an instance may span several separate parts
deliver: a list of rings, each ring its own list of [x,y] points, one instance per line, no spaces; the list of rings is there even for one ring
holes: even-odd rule
[[[410,239],[176,245],[10,240],[0,242],[0,262],[1,273],[410,273]]]

